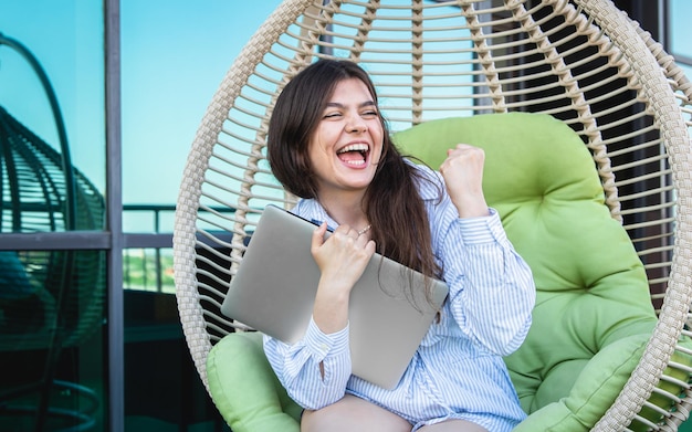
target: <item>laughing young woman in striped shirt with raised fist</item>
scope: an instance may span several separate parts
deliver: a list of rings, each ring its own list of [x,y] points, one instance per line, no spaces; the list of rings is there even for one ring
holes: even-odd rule
[[[482,190],[484,152],[458,145],[436,172],[390,140],[369,76],[321,60],[284,88],[269,128],[276,178],[323,221],[321,270],[304,338],[265,337],[266,356],[305,408],[303,431],[510,431],[524,417],[502,356],[531,325],[531,271]],[[333,235],[325,240],[327,226]],[[450,294],[398,386],[350,372],[348,298],[377,252],[447,282]]]

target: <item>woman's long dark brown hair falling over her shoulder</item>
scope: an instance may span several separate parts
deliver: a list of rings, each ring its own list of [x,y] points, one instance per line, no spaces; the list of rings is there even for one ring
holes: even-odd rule
[[[322,119],[336,85],[358,78],[368,87],[377,104],[377,93],[368,74],[356,63],[345,60],[319,60],[298,73],[276,99],[269,124],[268,159],[276,179],[291,193],[317,198],[308,144]],[[371,239],[377,252],[438,277],[430,224],[417,181],[428,181],[407,164],[391,141],[381,114],[382,155],[375,178],[364,197],[364,210],[373,225]]]

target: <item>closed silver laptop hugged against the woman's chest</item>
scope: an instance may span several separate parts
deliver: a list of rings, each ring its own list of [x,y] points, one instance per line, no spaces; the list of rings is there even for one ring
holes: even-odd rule
[[[303,338],[319,281],[310,252],[314,230],[314,223],[268,206],[221,313],[287,344]],[[373,256],[350,294],[354,375],[385,389],[396,387],[448,294],[443,282],[428,283],[432,302],[426,298],[422,274]]]

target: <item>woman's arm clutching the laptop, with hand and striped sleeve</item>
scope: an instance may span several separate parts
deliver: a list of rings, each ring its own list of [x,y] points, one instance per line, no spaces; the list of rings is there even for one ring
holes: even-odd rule
[[[316,410],[344,397],[350,378],[348,304],[375,242],[347,225],[325,240],[327,225],[314,231],[311,252],[321,277],[305,336],[287,345],[264,338],[264,351],[279,380],[303,408]],[[300,270],[298,270],[300,271]]]

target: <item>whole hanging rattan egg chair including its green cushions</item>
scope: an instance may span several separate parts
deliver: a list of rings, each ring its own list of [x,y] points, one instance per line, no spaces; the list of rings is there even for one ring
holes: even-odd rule
[[[181,324],[233,431],[298,430],[261,335],[219,306],[262,209],[295,203],[266,164],[268,124],[321,57],[371,75],[407,154],[437,168],[445,146],[485,149],[489,204],[537,288],[506,358],[528,414],[516,430],[677,430],[691,401],[692,86],[673,59],[609,0],[285,0],[211,99],[176,211]]]

